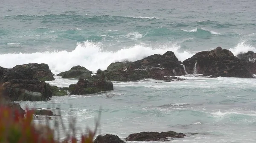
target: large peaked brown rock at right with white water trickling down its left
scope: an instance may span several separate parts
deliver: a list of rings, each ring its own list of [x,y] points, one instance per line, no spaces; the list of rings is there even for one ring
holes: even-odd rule
[[[234,56],[230,50],[221,47],[211,51],[198,52],[183,61],[183,65],[188,74],[212,75],[212,77],[252,77],[238,57]]]

